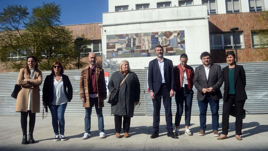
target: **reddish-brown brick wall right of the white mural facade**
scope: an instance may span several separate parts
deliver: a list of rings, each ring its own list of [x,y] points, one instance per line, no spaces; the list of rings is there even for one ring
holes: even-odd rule
[[[244,32],[245,49],[238,49],[238,62],[264,61],[267,58],[268,48],[252,48],[251,31],[267,29],[267,23],[260,22],[258,19],[263,12],[252,13],[230,13],[210,15],[209,31],[210,34],[218,32],[230,32],[231,27],[238,27],[239,31]],[[211,50],[214,63],[225,63],[226,50]]]

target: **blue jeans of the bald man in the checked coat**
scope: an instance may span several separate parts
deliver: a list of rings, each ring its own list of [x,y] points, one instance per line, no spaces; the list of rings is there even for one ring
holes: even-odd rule
[[[98,116],[98,128],[99,133],[104,132],[104,122],[102,115],[102,108],[98,108],[98,98],[90,98],[90,107],[86,107],[86,116],[85,116],[85,132],[90,134],[90,125],[91,125],[91,112],[92,107],[95,106],[96,113]]]

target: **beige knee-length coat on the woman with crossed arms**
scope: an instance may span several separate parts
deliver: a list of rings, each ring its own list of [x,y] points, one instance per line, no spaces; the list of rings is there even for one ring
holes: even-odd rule
[[[26,79],[26,81],[23,81]],[[27,74],[27,69],[20,69],[17,84],[22,87],[16,101],[16,112],[27,112],[29,91],[32,89],[32,113],[40,112],[40,88],[42,84],[42,72],[34,70],[33,79]]]

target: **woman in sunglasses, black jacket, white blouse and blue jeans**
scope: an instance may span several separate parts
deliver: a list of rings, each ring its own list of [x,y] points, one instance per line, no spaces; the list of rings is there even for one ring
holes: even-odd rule
[[[54,141],[65,141],[67,138],[64,136],[64,113],[67,102],[72,99],[72,84],[69,77],[63,74],[61,62],[55,61],[51,71],[44,81],[43,105],[48,106],[51,112]]]

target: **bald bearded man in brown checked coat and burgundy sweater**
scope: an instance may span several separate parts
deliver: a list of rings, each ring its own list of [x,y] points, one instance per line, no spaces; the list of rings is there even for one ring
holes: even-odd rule
[[[106,99],[107,91],[104,70],[96,66],[96,60],[96,54],[90,53],[88,56],[89,65],[81,70],[80,75],[80,98],[83,102],[83,107],[86,110],[85,133],[82,139],[90,137],[90,116],[93,106],[95,106],[98,116],[100,138],[105,138],[102,108],[104,107],[104,100]]]

